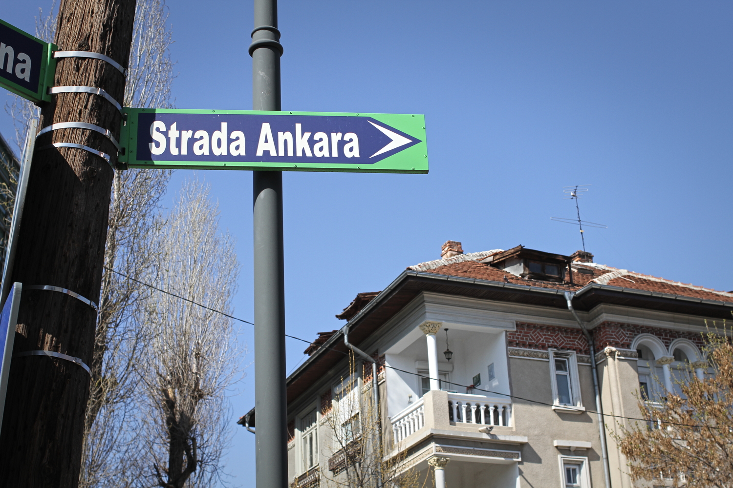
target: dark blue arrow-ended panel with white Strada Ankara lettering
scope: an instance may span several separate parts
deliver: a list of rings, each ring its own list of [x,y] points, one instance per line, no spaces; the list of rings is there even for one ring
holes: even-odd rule
[[[418,138],[371,117],[141,113],[137,158],[150,161],[372,165]]]

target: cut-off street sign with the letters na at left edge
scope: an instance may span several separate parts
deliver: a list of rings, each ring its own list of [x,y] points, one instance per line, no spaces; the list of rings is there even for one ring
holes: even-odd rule
[[[34,103],[51,102],[56,45],[0,20],[0,86]]]

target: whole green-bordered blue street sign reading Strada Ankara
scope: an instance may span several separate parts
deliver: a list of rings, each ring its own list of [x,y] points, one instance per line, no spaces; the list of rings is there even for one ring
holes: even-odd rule
[[[427,173],[412,114],[124,108],[128,168]]]

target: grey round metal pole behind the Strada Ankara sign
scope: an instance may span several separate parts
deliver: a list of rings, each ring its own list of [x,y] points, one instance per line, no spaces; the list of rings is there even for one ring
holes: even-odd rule
[[[280,110],[277,1],[254,0],[252,103]],[[287,487],[282,173],[253,172],[254,395],[258,488]]]

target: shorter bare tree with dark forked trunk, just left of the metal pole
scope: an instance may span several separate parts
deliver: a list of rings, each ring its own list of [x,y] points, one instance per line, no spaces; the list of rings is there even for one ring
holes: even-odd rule
[[[209,186],[185,182],[157,247],[156,286],[232,314],[239,264],[234,239],[218,229]],[[239,375],[232,319],[169,294],[147,302],[144,374],[147,444],[155,483],[163,488],[209,487],[221,475],[229,441],[226,388]]]

